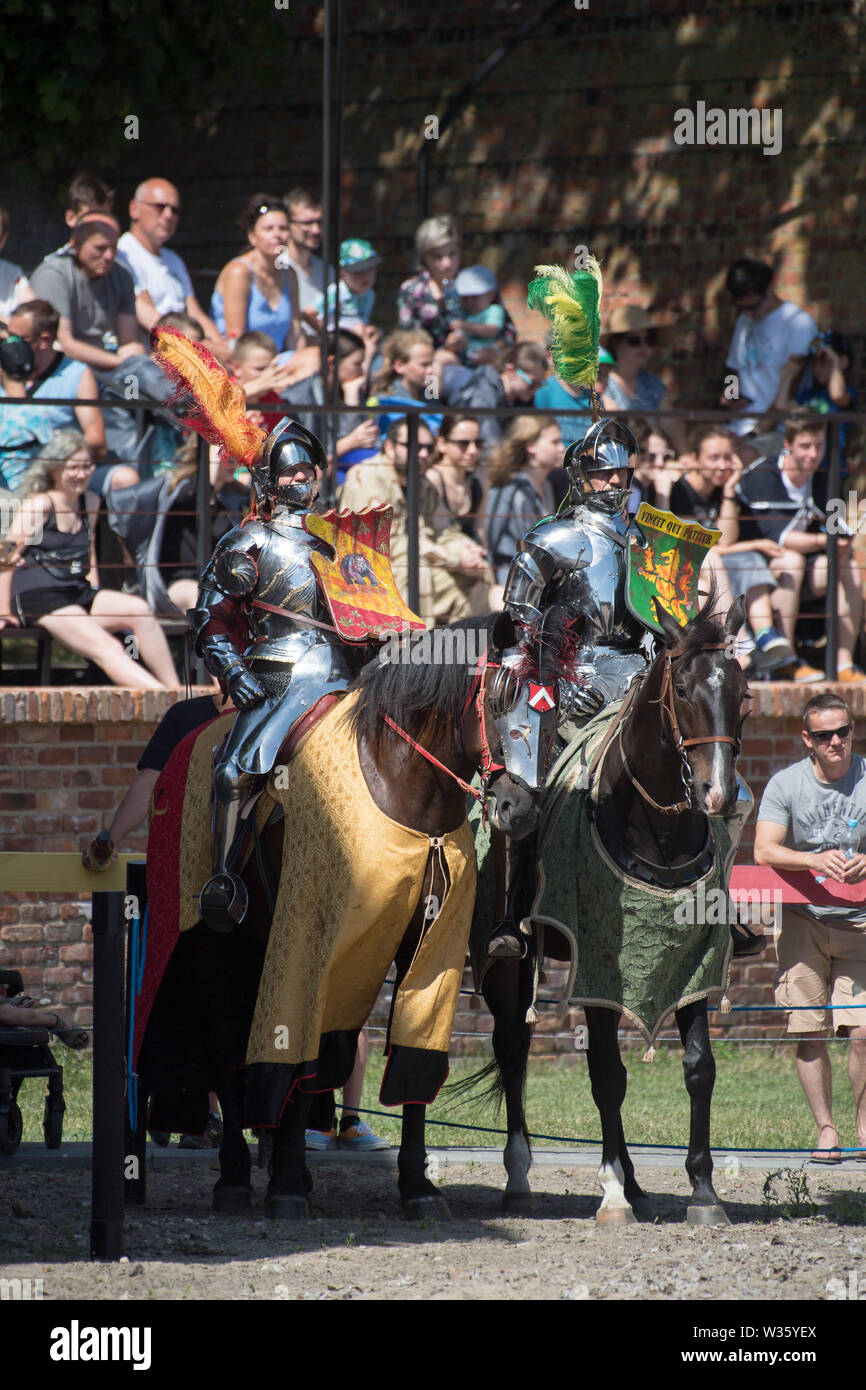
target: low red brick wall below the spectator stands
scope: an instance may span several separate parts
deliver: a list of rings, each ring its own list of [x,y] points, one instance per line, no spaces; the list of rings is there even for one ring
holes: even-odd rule
[[[826,687],[824,687],[826,688]],[[740,767],[756,805],[769,776],[801,756],[801,710],[813,694],[784,682],[753,687],[753,714],[746,724]],[[202,694],[196,691],[195,694]],[[845,691],[853,713],[866,714],[866,688]],[[75,851],[110,820],[156,724],[172,703],[164,692],[125,689],[51,689],[0,692],[0,851]],[[740,859],[751,862],[753,828],[746,827]],[[145,849],[146,837],[124,847]],[[92,955],[89,901],[56,894],[0,892],[0,962],[19,967],[31,994],[44,991],[76,1023],[89,1024]],[[771,951],[734,966],[735,1004],[771,1004]],[[556,997],[562,972],[550,972],[542,995]],[[467,976],[468,986],[468,976]],[[570,1051],[569,1040],[555,1041],[564,1016],[545,1009],[534,1051]],[[377,1006],[373,1022],[384,1023]],[[581,1020],[569,1015],[569,1027]],[[774,1033],[778,1016],[734,1015],[719,1036],[746,1037]],[[457,1033],[489,1033],[487,1011],[473,1011],[464,995]],[[381,1034],[375,1036],[377,1038]],[[457,1038],[455,1049],[473,1049],[471,1038]]]

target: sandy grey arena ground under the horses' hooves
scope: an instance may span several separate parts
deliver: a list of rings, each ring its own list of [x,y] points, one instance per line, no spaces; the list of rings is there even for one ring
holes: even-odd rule
[[[7,1169],[0,1276],[40,1277],[46,1300],[763,1301],[838,1298],[853,1270],[866,1294],[863,1163],[806,1169],[817,1213],[788,1205],[790,1219],[778,1215],[790,1202],[783,1182],[767,1208],[766,1172],[717,1170],[731,1225],[712,1229],[685,1225],[681,1169],[641,1168],[656,1223],[616,1230],[595,1225],[592,1168],[535,1168],[535,1215],[509,1218],[498,1163],[446,1163],[441,1190],[453,1220],[425,1229],[400,1218],[392,1168],[324,1155],[313,1168],[313,1220],[275,1223],[260,1208],[218,1216],[215,1155],[196,1158],[150,1172],[147,1207],[128,1211],[128,1258],[114,1265],[86,1259],[88,1169]],[[261,1204],[265,1175],[254,1169],[253,1184]]]

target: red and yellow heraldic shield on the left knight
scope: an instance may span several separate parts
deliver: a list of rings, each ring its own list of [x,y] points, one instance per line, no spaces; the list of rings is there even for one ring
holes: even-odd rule
[[[310,512],[303,518],[304,530],[334,550],[332,560],[313,555],[310,563],[346,642],[427,628],[403,602],[391,571],[392,516],[382,505],[363,512]]]

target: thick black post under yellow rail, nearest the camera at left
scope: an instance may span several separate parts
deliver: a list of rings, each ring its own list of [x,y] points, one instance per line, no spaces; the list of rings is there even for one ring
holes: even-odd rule
[[[124,1254],[124,894],[93,894],[90,1258]]]

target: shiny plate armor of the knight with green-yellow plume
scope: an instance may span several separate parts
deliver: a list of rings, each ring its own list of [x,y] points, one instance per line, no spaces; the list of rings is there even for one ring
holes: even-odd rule
[[[630,539],[644,543],[626,516],[628,486],[585,488],[591,471],[627,468],[631,475],[628,459],[635,452],[631,434],[612,420],[601,420],[573,445],[563,466],[577,505],[532,527],[506,580],[503,606],[516,621],[535,623],[553,603],[564,603],[582,619],[580,680],[559,684],[562,721],[585,723],[603,705],[621,699],[646,670],[648,634],[626,603]]]

